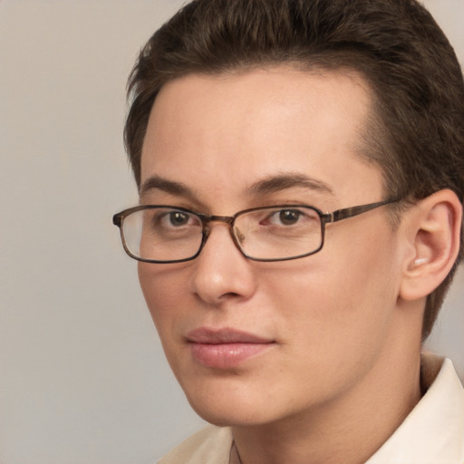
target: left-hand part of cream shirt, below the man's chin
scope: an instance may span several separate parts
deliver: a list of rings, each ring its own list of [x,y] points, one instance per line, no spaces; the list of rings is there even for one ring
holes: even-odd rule
[[[231,446],[229,428],[208,426],[172,449],[159,464],[228,464]]]

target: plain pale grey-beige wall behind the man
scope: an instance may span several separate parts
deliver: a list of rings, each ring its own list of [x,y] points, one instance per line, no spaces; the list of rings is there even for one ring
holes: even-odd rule
[[[203,423],[111,224],[137,203],[126,78],[182,3],[0,0],[2,464],[154,463]],[[464,0],[426,5],[464,63]],[[461,376],[463,295],[461,268],[428,343]]]

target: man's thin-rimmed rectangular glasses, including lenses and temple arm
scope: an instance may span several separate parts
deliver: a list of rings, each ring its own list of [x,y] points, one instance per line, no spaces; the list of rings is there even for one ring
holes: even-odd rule
[[[234,216],[208,216],[165,205],[142,205],[115,214],[126,253],[147,263],[195,259],[205,246],[212,222],[226,223],[244,256],[255,261],[285,261],[314,255],[324,246],[325,225],[398,200],[385,200],[323,213],[307,205],[249,208]]]

